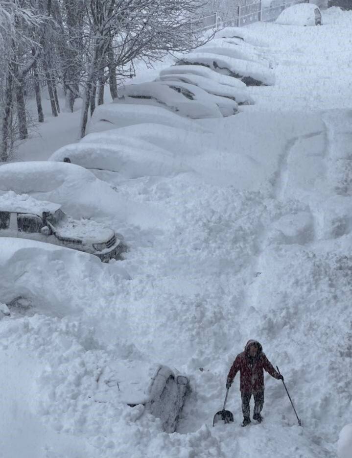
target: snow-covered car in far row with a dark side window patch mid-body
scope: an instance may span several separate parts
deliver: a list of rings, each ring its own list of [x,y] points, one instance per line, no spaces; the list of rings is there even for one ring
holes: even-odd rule
[[[159,83],[178,91],[190,100],[198,100],[204,104],[215,103],[224,117],[238,113],[238,104],[235,100],[231,100],[228,97],[209,94],[207,91],[204,91],[194,84],[177,81],[177,79],[164,79],[160,80]]]

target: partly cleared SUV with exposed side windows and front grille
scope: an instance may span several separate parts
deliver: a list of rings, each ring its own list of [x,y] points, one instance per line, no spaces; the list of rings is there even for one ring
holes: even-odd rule
[[[0,196],[0,237],[18,237],[62,245],[94,254],[101,261],[117,259],[123,243],[115,232],[91,219],[73,219],[61,205],[13,191]]]

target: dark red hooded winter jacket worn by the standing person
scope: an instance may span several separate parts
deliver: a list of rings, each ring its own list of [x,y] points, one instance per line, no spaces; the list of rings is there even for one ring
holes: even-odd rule
[[[249,356],[249,347],[253,343],[256,343],[258,346],[257,356],[255,358]],[[229,371],[229,375],[227,376],[227,381],[232,383],[235,375],[239,371],[240,391],[245,393],[256,393],[264,389],[263,369],[269,372],[275,379],[280,379],[280,374],[274,369],[271,362],[263,353],[260,343],[257,340],[248,340],[244,347],[244,351],[236,356]]]

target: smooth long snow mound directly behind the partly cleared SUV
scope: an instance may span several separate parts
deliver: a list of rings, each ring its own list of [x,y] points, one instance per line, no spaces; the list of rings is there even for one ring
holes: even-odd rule
[[[16,162],[0,166],[1,191],[29,194],[38,200],[62,205],[76,219],[109,217],[117,224],[160,226],[167,220],[164,211],[148,203],[139,203],[117,193],[112,186],[75,164],[66,162]]]

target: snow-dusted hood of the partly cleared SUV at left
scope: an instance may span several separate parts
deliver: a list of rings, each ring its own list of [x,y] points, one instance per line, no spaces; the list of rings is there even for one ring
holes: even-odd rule
[[[67,218],[55,226],[55,233],[59,237],[68,239],[89,240],[94,243],[103,243],[114,237],[115,232],[91,219]]]

